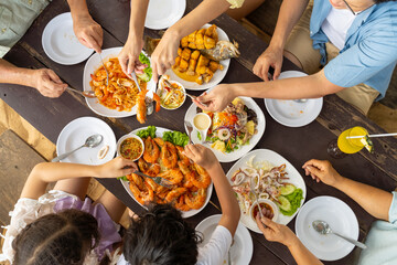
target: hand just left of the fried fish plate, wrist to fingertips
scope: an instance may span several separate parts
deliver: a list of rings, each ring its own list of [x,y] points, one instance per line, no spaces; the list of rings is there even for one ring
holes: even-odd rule
[[[171,68],[172,65],[174,65],[180,40],[181,38],[170,30],[161,38],[160,43],[151,55],[154,82],[158,82],[159,76],[163,75],[168,68]]]

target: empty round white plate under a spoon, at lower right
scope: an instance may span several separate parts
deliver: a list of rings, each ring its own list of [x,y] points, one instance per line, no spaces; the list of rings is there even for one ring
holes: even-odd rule
[[[347,256],[354,245],[333,234],[319,234],[312,226],[315,220],[325,221],[334,232],[357,240],[358,222],[352,209],[340,199],[316,197],[302,206],[296,222],[298,237],[318,258],[336,261]]]

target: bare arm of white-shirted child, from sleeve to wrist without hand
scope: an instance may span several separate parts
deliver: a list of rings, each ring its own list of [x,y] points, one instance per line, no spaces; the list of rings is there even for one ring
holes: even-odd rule
[[[216,163],[207,171],[210,176],[212,176],[222,208],[222,219],[219,224],[229,229],[230,233],[234,234],[240,218],[240,210],[236,195],[219,163]]]

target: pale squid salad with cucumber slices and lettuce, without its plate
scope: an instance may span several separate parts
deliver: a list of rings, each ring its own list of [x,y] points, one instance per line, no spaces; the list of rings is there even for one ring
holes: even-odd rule
[[[273,167],[268,161],[254,163],[254,158],[255,156],[250,157],[245,167],[236,170],[230,178],[242,213],[249,214],[255,202],[255,195],[251,192],[251,182],[254,182],[255,192],[259,199],[275,202],[283,215],[293,215],[301,205],[303,192],[288,182],[286,163],[278,167]]]

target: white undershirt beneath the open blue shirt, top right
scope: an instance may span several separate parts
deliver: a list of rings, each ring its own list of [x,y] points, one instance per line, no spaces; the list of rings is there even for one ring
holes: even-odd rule
[[[329,15],[321,25],[332,44],[339,50],[344,47],[347,30],[351,28],[355,15],[348,9],[335,9],[332,7]]]

